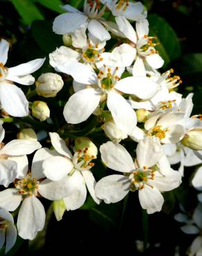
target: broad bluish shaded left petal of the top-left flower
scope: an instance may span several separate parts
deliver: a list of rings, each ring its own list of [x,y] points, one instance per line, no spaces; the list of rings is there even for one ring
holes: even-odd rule
[[[74,32],[86,22],[88,17],[78,12],[63,13],[53,21],[53,32],[59,35]]]

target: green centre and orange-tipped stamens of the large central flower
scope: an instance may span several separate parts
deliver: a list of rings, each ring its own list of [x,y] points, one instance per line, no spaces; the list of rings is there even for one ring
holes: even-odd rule
[[[104,66],[104,71],[100,71],[98,74],[98,85],[100,88],[105,90],[110,90],[115,86],[116,82],[120,80],[120,77],[117,75],[118,67],[111,72],[111,68],[106,68]]]

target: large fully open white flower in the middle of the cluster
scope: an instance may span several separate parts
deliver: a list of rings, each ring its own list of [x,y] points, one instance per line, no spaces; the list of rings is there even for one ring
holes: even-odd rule
[[[142,99],[152,98],[158,91],[158,84],[150,80],[149,77],[126,77],[120,80],[123,71],[123,68],[104,67],[98,76],[95,72],[86,72],[85,76],[88,77],[89,82],[77,84],[77,92],[66,102],[64,107],[66,122],[72,124],[83,122],[95,111],[100,100],[107,97],[107,107],[111,111],[111,116],[118,129],[131,134],[136,126],[136,113],[120,92],[133,94]],[[80,70],[75,70],[75,73],[80,73]],[[77,79],[77,77],[74,78]]]

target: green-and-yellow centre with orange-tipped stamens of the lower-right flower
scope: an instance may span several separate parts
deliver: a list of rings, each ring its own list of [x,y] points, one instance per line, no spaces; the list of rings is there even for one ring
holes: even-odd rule
[[[132,174],[129,179],[131,180],[131,191],[142,190],[145,188],[145,184],[149,185],[149,180],[154,180],[154,170],[148,169],[147,167],[138,168]],[[153,188],[152,185],[149,185]]]

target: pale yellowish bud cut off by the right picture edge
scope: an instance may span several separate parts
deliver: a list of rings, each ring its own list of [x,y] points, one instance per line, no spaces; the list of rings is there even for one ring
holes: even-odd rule
[[[202,150],[202,129],[196,128],[187,131],[181,143],[190,149]]]

